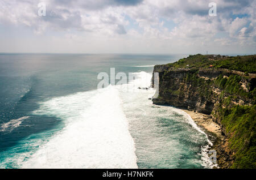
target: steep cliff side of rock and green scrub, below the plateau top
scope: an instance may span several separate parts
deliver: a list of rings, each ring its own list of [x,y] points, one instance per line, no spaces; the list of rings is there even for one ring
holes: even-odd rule
[[[220,156],[219,165],[256,168],[256,75],[228,68],[195,67],[186,65],[187,59],[181,60],[185,65],[182,68],[175,67],[175,63],[154,67],[154,72],[159,73],[159,96],[152,99],[153,103],[210,114],[225,136],[216,146],[219,153],[225,154],[225,157]],[[245,159],[247,156],[252,160]]]

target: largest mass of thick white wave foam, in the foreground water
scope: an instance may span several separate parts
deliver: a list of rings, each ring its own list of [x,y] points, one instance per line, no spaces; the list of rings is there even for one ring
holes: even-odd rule
[[[22,168],[138,168],[115,87],[53,98],[34,113],[62,118],[65,127]]]

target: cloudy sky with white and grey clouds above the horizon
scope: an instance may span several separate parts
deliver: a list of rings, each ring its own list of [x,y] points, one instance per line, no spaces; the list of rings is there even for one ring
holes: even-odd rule
[[[255,54],[255,8],[256,0],[0,0],[0,52]]]

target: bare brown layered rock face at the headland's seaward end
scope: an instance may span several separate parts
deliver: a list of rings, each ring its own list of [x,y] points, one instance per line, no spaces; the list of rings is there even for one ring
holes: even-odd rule
[[[185,108],[196,110],[204,114],[211,114],[214,105],[218,104],[218,95],[222,89],[212,85],[204,85],[196,79],[188,80],[188,76],[197,76],[203,81],[211,81],[216,79],[219,75],[224,75],[227,78],[232,75],[241,75],[242,72],[225,70],[225,69],[182,69],[182,70],[168,70],[165,65],[157,65],[154,67],[154,72],[159,73],[159,96],[153,98],[154,104],[173,105],[178,108]],[[242,79],[241,87],[243,89],[250,89],[255,78]],[[152,87],[154,87],[154,75],[152,78]],[[229,95],[225,95],[229,96]],[[250,102],[246,99],[237,99],[237,103]],[[189,108],[188,108],[189,107]]]

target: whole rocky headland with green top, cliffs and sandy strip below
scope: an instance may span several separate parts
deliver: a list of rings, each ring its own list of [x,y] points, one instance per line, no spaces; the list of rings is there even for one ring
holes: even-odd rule
[[[220,168],[256,168],[256,55],[189,55],[154,72],[159,96],[153,103],[184,109],[213,134]]]

